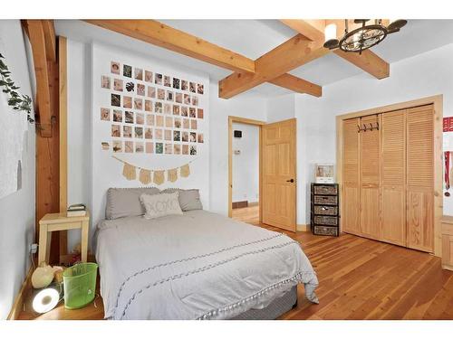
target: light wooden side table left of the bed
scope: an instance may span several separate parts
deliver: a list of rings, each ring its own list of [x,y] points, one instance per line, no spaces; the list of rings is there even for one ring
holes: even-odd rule
[[[52,231],[67,231],[80,229],[82,231],[81,255],[82,261],[87,261],[88,256],[88,229],[90,213],[87,211],[83,217],[68,217],[66,212],[47,213],[39,221],[39,253],[38,265],[45,261],[49,264],[51,252]]]

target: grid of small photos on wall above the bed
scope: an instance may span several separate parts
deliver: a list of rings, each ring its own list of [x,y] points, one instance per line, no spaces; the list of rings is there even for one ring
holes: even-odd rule
[[[203,84],[111,61],[101,89],[109,89],[111,105],[100,114],[110,123],[114,153],[198,154],[205,142]],[[108,142],[101,144],[110,149]]]

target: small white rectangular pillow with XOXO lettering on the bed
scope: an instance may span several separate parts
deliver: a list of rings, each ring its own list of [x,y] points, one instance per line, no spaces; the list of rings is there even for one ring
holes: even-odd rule
[[[182,214],[179,206],[179,193],[161,193],[140,195],[140,202],[145,206],[145,218],[155,219],[166,215]]]

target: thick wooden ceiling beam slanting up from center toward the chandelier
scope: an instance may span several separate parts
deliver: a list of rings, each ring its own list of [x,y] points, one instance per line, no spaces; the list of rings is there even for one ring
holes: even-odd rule
[[[218,83],[220,98],[229,99],[248,89],[284,75],[288,71],[320,58],[329,51],[319,42],[297,34],[255,60],[255,73],[235,72]]]

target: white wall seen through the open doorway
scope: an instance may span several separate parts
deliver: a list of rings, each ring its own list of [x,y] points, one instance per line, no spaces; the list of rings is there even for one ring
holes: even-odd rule
[[[242,131],[242,137],[233,137],[233,202],[259,200],[259,127],[233,123],[233,131]],[[240,151],[236,155],[234,151]]]

